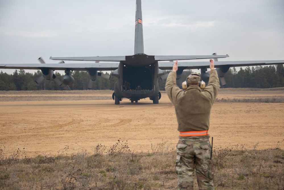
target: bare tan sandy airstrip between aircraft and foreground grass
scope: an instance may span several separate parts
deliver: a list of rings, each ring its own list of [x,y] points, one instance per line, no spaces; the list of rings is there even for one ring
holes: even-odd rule
[[[1,101],[0,147],[11,155],[19,148],[28,156],[57,155],[65,146],[68,154],[87,151],[92,154],[97,144],[109,148],[119,138],[127,140],[130,150],[152,152],[156,145],[167,140],[169,148],[178,141],[175,109],[166,94],[158,105],[149,99],[130,103],[124,99],[114,105],[113,91],[102,91],[107,100],[57,101]],[[231,92],[222,91],[218,97],[284,97],[284,91]],[[91,96],[96,93],[92,91]],[[22,95],[0,93],[2,97]],[[38,96],[76,96],[88,99],[86,94],[38,94]],[[103,98],[102,98],[103,99]],[[244,147],[252,149],[284,149],[284,103],[225,103],[215,102],[212,107],[210,135],[213,147]],[[210,139],[211,140],[211,139]],[[278,143],[280,142],[280,143]],[[239,146],[239,147],[240,147]],[[65,153],[64,153],[65,154]]]

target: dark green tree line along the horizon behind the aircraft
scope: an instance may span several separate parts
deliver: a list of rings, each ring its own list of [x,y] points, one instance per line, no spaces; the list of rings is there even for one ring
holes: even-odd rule
[[[170,71],[166,71],[170,72]],[[192,73],[192,70],[184,70],[181,81]],[[106,73],[109,74],[109,73]],[[73,71],[72,76],[75,82],[72,86],[62,84],[57,86],[53,80],[43,80],[42,84],[37,84],[35,80],[42,75],[38,70],[34,73],[25,72],[20,69],[15,70],[13,74],[0,72],[0,90],[87,90],[90,81],[89,74],[84,71]],[[61,79],[63,74],[55,72],[55,75]],[[223,88],[275,88],[284,87],[284,67],[283,65],[253,66],[240,68],[239,71],[230,68],[224,76],[226,85]],[[97,77],[93,82],[93,90],[113,89],[116,77],[110,79]],[[165,80],[159,79],[160,90],[165,90]]]

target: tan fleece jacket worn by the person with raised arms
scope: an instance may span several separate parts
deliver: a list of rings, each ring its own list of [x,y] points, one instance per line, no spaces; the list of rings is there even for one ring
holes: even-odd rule
[[[175,106],[178,128],[184,131],[209,130],[211,107],[217,97],[220,88],[217,71],[210,70],[208,85],[201,90],[198,85],[190,85],[182,90],[176,85],[177,73],[169,73],[165,89],[169,99]],[[199,136],[199,137],[209,137]],[[180,138],[186,138],[181,137]]]

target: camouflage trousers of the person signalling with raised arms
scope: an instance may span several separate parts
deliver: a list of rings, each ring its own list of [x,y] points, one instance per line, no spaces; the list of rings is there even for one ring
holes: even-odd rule
[[[209,138],[180,138],[177,144],[178,189],[193,189],[194,169],[199,189],[213,189],[215,167]]]

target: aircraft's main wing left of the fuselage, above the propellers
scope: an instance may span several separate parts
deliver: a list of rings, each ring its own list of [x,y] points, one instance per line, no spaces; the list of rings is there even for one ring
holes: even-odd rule
[[[49,69],[49,70],[71,70],[87,71],[95,69],[98,71],[111,71],[118,68],[119,63],[56,63],[56,64],[0,64],[0,69]]]

